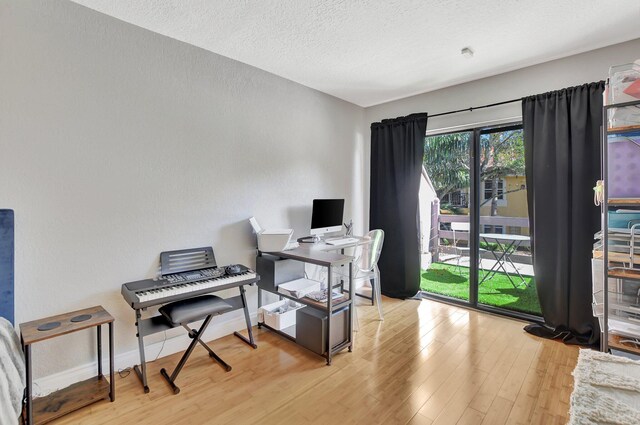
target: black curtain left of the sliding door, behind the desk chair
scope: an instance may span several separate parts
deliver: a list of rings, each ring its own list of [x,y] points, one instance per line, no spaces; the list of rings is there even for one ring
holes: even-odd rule
[[[426,131],[426,113],[371,124],[369,228],[384,230],[378,267],[389,297],[420,290],[418,192]]]

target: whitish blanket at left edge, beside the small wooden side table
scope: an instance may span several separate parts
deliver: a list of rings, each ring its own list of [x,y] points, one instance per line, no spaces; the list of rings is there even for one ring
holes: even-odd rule
[[[11,322],[0,317],[0,425],[15,425],[26,386],[24,358]]]

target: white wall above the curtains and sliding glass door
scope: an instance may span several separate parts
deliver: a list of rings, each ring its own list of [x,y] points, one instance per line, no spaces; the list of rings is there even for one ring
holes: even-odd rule
[[[381,119],[414,112],[437,114],[465,109],[605,80],[611,65],[633,62],[638,58],[640,58],[640,39],[372,106],[365,109],[365,123],[366,126],[370,126],[371,123]],[[470,59],[468,64],[473,66],[473,59]],[[521,116],[522,103],[516,102],[473,112],[429,118],[427,132],[469,128],[478,123],[519,121]],[[367,132],[366,139],[371,139],[370,131]],[[369,205],[369,155],[369,145],[367,145],[364,160],[367,165],[365,205]]]

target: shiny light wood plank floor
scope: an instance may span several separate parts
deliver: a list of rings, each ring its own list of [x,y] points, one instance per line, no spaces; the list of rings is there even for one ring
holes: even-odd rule
[[[173,395],[149,366],[151,392],[131,373],[116,401],[56,424],[564,424],[577,348],[535,338],[523,322],[433,301],[384,299],[385,321],[362,302],[352,353],[324,359],[257,330],[253,350],[228,336],[210,344],[225,373],[196,348]]]

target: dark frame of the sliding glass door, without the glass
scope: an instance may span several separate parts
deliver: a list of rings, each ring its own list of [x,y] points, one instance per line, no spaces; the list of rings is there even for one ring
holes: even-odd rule
[[[474,310],[480,310],[500,316],[507,316],[514,319],[526,320],[534,323],[544,323],[544,319],[540,316],[527,314],[519,311],[508,310],[505,308],[494,307],[478,302],[478,277],[479,277],[479,260],[480,260],[480,205],[482,189],[480,187],[480,138],[484,134],[498,133],[502,131],[522,129],[522,122],[509,122],[504,124],[496,124],[485,127],[474,127],[469,129],[460,129],[456,131],[445,131],[435,133],[429,136],[440,136],[444,134],[454,133],[471,133],[469,143],[469,301],[456,298],[450,298],[439,294],[433,294],[421,291],[424,298],[436,301],[446,302],[463,307],[469,307]],[[426,137],[429,137],[426,136]],[[428,171],[427,171],[428,172]],[[439,243],[439,241],[438,241]]]

